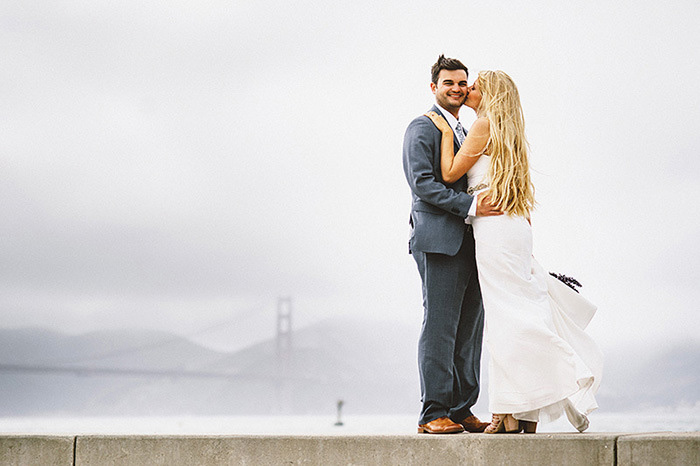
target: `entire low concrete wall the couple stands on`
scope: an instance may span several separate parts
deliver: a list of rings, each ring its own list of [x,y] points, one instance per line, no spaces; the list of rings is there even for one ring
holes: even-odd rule
[[[0,436],[0,465],[697,465],[700,433]]]

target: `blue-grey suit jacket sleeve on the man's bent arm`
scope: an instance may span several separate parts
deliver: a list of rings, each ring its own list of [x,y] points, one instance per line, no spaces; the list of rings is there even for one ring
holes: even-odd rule
[[[467,218],[473,197],[447,187],[435,176],[433,153],[440,149],[435,147],[434,131],[439,130],[425,116],[416,118],[408,125],[403,141],[403,168],[406,180],[421,200]]]

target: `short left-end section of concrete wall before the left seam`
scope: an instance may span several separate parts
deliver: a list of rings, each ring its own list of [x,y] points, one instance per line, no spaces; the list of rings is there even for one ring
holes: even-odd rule
[[[46,435],[0,436],[0,464],[73,466],[75,437]]]

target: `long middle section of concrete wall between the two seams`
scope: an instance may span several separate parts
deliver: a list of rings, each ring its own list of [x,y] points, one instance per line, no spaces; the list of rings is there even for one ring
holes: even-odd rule
[[[81,436],[76,465],[614,465],[618,435]]]

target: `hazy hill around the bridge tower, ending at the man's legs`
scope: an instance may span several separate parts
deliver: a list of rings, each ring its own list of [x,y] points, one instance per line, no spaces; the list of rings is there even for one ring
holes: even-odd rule
[[[402,338],[406,334],[413,338]],[[416,339],[416,331],[389,323],[334,320],[301,329],[293,335],[288,368],[293,379],[283,385],[245,382],[247,389],[237,390],[246,400],[240,409],[263,406],[270,412],[332,414],[342,399],[348,412],[413,412],[420,397]],[[274,341],[233,353],[207,368],[269,374],[273,380],[283,369]]]

